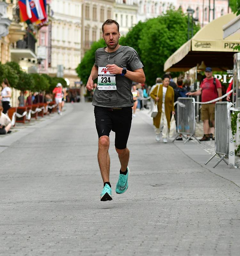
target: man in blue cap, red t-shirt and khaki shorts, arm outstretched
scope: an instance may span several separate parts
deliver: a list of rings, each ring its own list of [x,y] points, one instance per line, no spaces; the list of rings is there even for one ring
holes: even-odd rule
[[[222,96],[222,86],[218,79],[213,78],[212,68],[205,69],[206,78],[200,85],[200,89],[196,92],[188,92],[186,95],[201,95],[202,102],[208,102]],[[221,100],[220,100],[221,101]],[[204,136],[200,141],[214,139],[213,134],[209,133],[209,121],[211,121],[213,129],[215,123],[215,102],[202,104],[201,120],[203,120]]]

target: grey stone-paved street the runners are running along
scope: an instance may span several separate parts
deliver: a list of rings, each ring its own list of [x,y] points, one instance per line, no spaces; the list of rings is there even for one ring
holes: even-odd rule
[[[240,173],[194,142],[157,143],[139,111],[128,147],[129,188],[100,202],[90,103],[0,138],[0,255],[239,255]],[[12,136],[12,137],[11,137]]]

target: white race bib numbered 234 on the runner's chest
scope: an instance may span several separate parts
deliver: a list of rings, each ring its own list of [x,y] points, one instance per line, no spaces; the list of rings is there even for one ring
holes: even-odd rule
[[[98,68],[98,90],[116,90],[116,75],[110,74],[106,67]]]

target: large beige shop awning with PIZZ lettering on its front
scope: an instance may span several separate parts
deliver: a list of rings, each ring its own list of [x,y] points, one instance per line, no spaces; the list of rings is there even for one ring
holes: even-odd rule
[[[240,37],[229,36],[223,39],[223,25],[236,17],[227,14],[213,20],[200,29],[191,40],[183,44],[164,63],[164,71],[187,71],[204,61],[213,70],[233,68],[233,48],[240,44]]]

